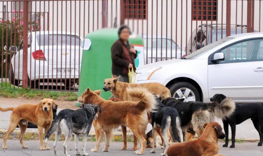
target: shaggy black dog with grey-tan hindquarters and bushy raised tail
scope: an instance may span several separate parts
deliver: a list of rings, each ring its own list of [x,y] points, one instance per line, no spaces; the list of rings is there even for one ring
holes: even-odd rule
[[[165,106],[176,108],[181,119],[184,140],[186,140],[186,130],[193,128],[198,137],[203,133],[203,125],[214,121],[215,117],[225,118],[230,116],[235,110],[234,102],[227,103],[203,103],[203,102],[183,102],[184,99],[175,99],[168,97],[162,102]],[[193,135],[194,136],[194,135]],[[187,141],[187,140],[186,140]]]

